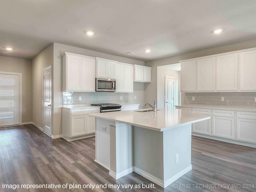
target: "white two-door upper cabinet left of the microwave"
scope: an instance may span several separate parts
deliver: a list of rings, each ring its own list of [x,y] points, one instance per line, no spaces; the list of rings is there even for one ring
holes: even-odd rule
[[[95,58],[64,52],[62,91],[95,92]]]

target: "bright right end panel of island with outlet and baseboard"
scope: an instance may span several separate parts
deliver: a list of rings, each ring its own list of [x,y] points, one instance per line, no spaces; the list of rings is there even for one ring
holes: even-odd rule
[[[164,138],[164,181],[165,186],[192,169],[191,124],[166,130]],[[178,162],[176,155],[178,154]]]

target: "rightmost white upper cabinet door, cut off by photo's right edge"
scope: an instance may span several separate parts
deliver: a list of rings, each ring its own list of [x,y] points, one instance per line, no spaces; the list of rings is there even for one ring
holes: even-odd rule
[[[256,51],[240,53],[240,90],[256,90]]]

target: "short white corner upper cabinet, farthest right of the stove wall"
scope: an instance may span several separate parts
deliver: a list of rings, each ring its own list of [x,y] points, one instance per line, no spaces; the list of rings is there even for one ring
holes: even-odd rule
[[[151,67],[134,65],[134,82],[151,82]]]

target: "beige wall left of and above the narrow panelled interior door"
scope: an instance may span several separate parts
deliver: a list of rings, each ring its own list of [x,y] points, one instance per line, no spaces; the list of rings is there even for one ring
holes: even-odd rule
[[[43,128],[43,68],[50,65],[53,65],[53,44],[32,60],[32,121],[41,128]]]

